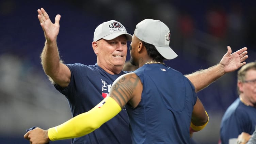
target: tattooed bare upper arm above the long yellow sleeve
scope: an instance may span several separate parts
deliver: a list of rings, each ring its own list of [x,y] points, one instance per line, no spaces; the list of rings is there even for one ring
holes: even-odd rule
[[[139,77],[137,75],[125,75],[113,84],[110,95],[118,101],[121,107],[124,107],[132,98],[138,83]]]

